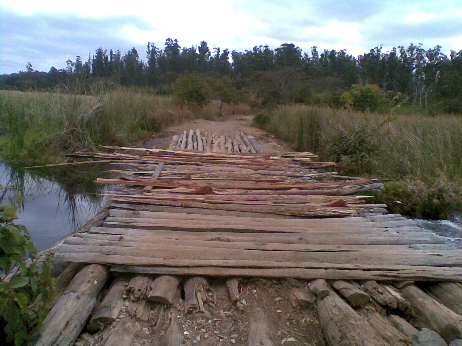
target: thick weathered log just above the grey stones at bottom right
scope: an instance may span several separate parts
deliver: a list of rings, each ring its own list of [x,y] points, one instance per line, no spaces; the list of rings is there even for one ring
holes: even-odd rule
[[[450,342],[462,337],[462,316],[456,314],[415,285],[401,288],[403,296],[411,303],[415,319],[413,325],[436,331]]]

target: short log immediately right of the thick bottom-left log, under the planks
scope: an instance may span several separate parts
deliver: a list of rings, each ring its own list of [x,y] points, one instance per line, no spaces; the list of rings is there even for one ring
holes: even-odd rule
[[[87,329],[90,333],[96,333],[116,320],[123,306],[123,293],[127,284],[128,281],[125,278],[114,280],[88,323]]]

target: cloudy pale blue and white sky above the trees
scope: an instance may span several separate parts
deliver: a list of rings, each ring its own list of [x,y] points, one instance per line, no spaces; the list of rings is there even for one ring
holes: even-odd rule
[[[462,49],[462,0],[0,0],[0,73],[65,67],[98,47],[164,48],[207,41],[212,50],[244,51],[294,43],[359,55],[383,45],[423,43]]]

